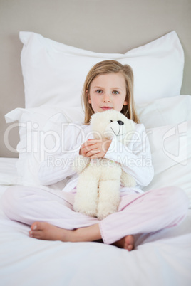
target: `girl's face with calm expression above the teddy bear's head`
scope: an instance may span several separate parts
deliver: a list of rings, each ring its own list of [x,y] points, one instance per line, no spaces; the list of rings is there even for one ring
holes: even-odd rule
[[[105,110],[121,111],[123,105],[128,105],[125,97],[124,76],[121,73],[107,73],[96,76],[91,82],[88,102],[95,113]]]

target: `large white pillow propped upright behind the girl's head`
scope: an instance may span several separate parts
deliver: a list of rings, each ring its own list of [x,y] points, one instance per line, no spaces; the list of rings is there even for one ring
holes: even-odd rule
[[[20,32],[26,107],[81,107],[88,71],[102,60],[129,64],[135,75],[135,102],[180,94],[184,53],[175,31],[125,54],[94,53]]]

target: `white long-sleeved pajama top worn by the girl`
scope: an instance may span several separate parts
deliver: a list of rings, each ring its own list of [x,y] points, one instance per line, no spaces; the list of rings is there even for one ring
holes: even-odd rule
[[[51,185],[68,178],[63,191],[72,191],[78,181],[78,174],[72,168],[73,159],[79,155],[81,145],[88,139],[93,139],[91,125],[69,124],[62,134],[58,151],[48,154],[46,160],[41,162],[38,172],[41,184]],[[119,162],[123,171],[133,176],[136,186],[131,189],[135,191],[143,192],[141,187],[147,186],[153,179],[150,144],[142,124],[135,124],[135,131],[127,146],[113,137],[104,157]]]

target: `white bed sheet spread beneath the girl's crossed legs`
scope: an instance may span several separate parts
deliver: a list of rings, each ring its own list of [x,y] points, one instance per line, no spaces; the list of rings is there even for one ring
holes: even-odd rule
[[[6,180],[17,184],[15,163],[0,158],[0,196]],[[178,227],[137,235],[132,252],[103,243],[29,238],[29,226],[10,221],[3,211],[0,230],[2,286],[191,285],[191,210]]]

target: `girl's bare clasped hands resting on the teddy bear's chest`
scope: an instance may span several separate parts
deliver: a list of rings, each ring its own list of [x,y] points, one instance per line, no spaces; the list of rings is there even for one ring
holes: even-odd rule
[[[110,147],[108,139],[88,139],[81,145],[80,155],[91,159],[102,158]]]

